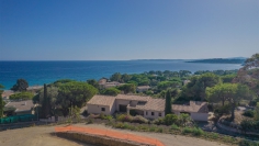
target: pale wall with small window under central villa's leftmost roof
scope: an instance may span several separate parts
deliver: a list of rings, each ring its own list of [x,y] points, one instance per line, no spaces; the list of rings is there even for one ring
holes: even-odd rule
[[[102,108],[105,108],[105,111],[102,111]],[[111,108],[109,105],[93,105],[93,104],[87,104],[88,113],[93,113],[93,114],[106,114],[110,115],[111,113]]]

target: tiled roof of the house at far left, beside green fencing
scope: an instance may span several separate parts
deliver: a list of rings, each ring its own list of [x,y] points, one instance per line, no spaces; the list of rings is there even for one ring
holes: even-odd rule
[[[34,104],[32,100],[24,100],[9,102],[5,106],[14,106],[16,109],[15,112],[21,112],[30,111],[32,108],[34,108]]]

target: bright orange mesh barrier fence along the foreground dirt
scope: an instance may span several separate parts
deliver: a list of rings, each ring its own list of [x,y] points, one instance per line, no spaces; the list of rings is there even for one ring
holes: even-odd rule
[[[66,126],[66,127],[55,127],[55,132],[79,132],[99,136],[106,136],[116,139],[137,142],[142,144],[156,145],[156,146],[165,146],[160,141],[133,134],[125,134],[110,130],[100,130],[100,128],[91,128],[91,127],[78,127],[78,126]]]

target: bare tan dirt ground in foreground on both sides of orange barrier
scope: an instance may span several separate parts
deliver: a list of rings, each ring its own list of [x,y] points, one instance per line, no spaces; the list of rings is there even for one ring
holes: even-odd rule
[[[226,146],[226,144],[219,144],[216,142],[210,142],[205,139],[185,137],[181,135],[170,135],[160,133],[144,133],[132,132],[126,130],[111,128],[102,124],[76,124],[77,126],[98,127],[103,130],[119,131],[135,135],[142,135],[146,137],[157,138],[166,146]],[[59,138],[50,135],[54,132],[54,126],[35,126],[18,130],[9,130],[0,132],[0,145],[3,146],[92,146],[89,144],[82,144],[78,142]]]

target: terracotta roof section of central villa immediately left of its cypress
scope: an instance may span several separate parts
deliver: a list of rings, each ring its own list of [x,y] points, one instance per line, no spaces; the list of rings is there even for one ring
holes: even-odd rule
[[[150,110],[150,111],[165,111],[164,99],[149,99],[146,104],[137,104],[134,109]]]

